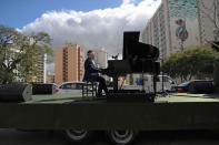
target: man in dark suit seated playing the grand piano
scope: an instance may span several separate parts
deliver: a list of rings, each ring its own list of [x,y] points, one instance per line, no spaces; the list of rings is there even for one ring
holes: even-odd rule
[[[83,82],[99,82],[98,94],[97,96],[102,96],[102,90],[104,93],[108,93],[106,85],[106,80],[100,76],[100,73],[103,72],[103,69],[99,69],[94,62],[94,52],[89,50],[87,52],[88,59],[84,62],[84,76]]]

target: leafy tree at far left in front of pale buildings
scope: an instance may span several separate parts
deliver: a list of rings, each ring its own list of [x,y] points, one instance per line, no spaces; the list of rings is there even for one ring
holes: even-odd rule
[[[27,35],[0,25],[0,83],[14,82],[16,77],[30,82],[38,74],[39,55],[51,50],[50,41],[44,32]]]

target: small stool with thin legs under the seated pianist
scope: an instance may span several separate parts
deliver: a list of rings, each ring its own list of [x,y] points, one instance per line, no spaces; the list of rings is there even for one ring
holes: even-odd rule
[[[82,84],[82,97],[92,96],[92,99],[97,95],[97,82],[84,82]]]

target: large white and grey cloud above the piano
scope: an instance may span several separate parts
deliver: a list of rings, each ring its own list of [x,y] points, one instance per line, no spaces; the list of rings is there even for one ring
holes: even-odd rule
[[[118,8],[89,12],[49,11],[23,27],[21,31],[46,31],[57,48],[72,42],[86,49],[106,48],[111,54],[121,53],[123,31],[142,30],[160,4],[160,0],[138,1],[122,0]]]

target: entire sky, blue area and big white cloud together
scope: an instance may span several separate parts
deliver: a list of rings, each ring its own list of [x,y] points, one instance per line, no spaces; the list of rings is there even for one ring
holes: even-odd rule
[[[47,32],[52,48],[67,42],[121,54],[123,31],[142,31],[161,0],[1,0],[0,24]],[[53,63],[48,65],[53,72]]]

